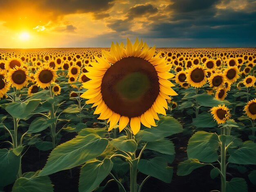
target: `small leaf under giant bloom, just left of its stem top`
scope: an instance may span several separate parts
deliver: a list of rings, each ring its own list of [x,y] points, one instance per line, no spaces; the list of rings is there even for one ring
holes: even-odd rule
[[[120,151],[135,152],[137,143],[134,139],[127,139],[126,136],[121,136],[110,141],[110,143]]]

